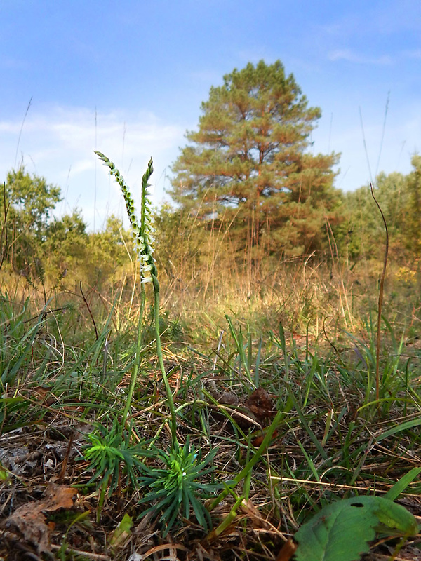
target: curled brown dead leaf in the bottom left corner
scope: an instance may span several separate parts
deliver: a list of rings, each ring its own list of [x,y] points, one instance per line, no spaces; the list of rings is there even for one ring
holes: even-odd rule
[[[6,519],[6,527],[11,532],[18,531],[26,541],[34,544],[39,553],[51,552],[50,533],[53,525],[46,523],[44,513],[59,508],[72,508],[76,489],[48,483],[41,501],[32,501],[17,508]]]

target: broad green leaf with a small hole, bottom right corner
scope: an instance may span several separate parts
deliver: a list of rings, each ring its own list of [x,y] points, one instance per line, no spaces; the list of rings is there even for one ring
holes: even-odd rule
[[[297,561],[356,561],[369,550],[376,530],[387,535],[417,534],[406,508],[378,496],[358,496],[323,508],[295,534]]]

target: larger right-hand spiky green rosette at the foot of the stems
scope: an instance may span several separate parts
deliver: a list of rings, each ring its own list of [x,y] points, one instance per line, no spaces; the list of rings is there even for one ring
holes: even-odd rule
[[[184,446],[175,442],[168,453],[153,448],[150,455],[159,457],[163,462],[163,468],[151,468],[145,464],[140,466],[144,475],[140,477],[139,483],[150,489],[140,503],[154,502],[142,513],[142,516],[149,512],[154,515],[161,513],[159,522],[163,525],[163,536],[171,530],[180,512],[188,519],[192,509],[203,529],[208,529],[210,526],[209,512],[197,499],[197,495],[209,494],[218,487],[213,483],[199,481],[204,475],[213,471],[213,466],[208,468],[206,466],[213,460],[215,453],[216,450],[212,450],[198,463],[198,454],[194,447],[190,447],[187,438]]]

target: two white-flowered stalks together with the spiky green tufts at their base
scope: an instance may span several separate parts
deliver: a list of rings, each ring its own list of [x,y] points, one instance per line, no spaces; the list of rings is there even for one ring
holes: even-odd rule
[[[203,461],[197,463],[197,454],[194,448],[190,449],[189,440],[184,446],[180,446],[177,440],[177,421],[175,415],[175,406],[173,402],[173,394],[168,383],[168,377],[163,365],[163,355],[161,346],[161,334],[159,328],[159,282],[157,278],[154,257],[152,256],[152,219],[151,219],[151,202],[148,198],[148,180],[153,172],[152,158],[149,161],[146,173],[142,178],[142,208],[140,212],[140,224],[135,214],[135,205],[130,191],[124,181],[119,170],[107,156],[101,152],[95,152],[100,159],[107,165],[111,175],[114,175],[116,181],[121,187],[128,217],[131,223],[133,237],[135,239],[135,248],[138,252],[140,260],[140,290],[141,290],[141,306],[138,320],[138,342],[136,350],[135,367],[131,374],[131,382],[126,398],[126,406],[123,411],[123,426],[113,425],[114,433],[112,437],[107,435],[102,440],[98,436],[91,436],[93,447],[86,452],[86,458],[93,460],[93,467],[97,468],[95,478],[103,474],[101,484],[102,492],[100,497],[100,508],[105,498],[105,491],[108,482],[111,482],[111,489],[115,488],[119,475],[119,466],[121,461],[125,464],[129,480],[134,482],[134,471],[140,469],[144,473],[137,481],[142,486],[150,487],[150,491],[140,501],[145,503],[148,501],[156,501],[150,506],[145,513],[154,512],[161,513],[159,520],[163,522],[164,532],[167,534],[175,518],[177,518],[180,510],[189,518],[191,508],[196,515],[199,524],[207,529],[210,525],[210,515],[203,504],[196,498],[196,495],[203,491],[215,489],[215,485],[204,484],[198,482],[199,478],[213,470],[212,467],[205,468],[212,461],[216,451],[210,452]],[[128,436],[123,437],[124,424],[128,419],[128,412],[131,407],[133,391],[135,388],[138,370],[140,367],[140,355],[142,351],[142,319],[145,310],[145,284],[152,283],[154,288],[154,323],[156,336],[156,354],[158,356],[159,367],[166,388],[166,397],[168,407],[171,412],[171,449],[168,454],[159,450],[155,445],[149,445],[138,450],[138,447],[130,447]],[[126,433],[125,433],[126,434]],[[143,464],[138,458],[142,457],[159,457],[163,461],[164,468],[150,468]],[[165,510],[163,510],[165,509]],[[143,514],[145,514],[143,513]]]

